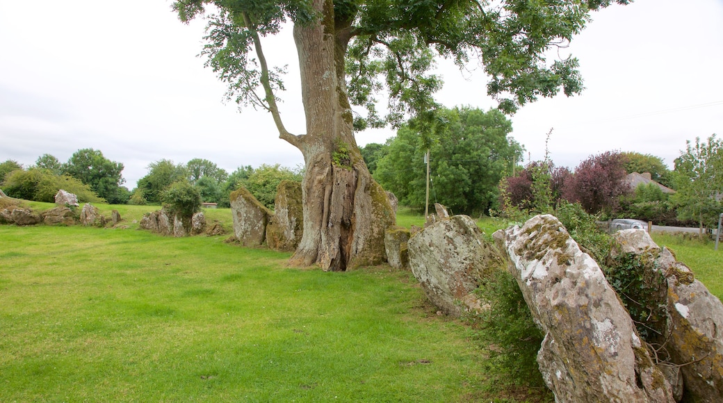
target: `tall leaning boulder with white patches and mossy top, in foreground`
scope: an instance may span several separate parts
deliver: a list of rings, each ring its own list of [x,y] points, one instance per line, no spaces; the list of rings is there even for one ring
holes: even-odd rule
[[[552,215],[495,233],[544,334],[537,363],[556,402],[674,402],[596,261]]]

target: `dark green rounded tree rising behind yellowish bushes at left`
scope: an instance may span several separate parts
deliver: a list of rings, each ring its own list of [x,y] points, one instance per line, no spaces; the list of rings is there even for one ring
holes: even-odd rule
[[[128,191],[121,191],[126,180],[121,176],[123,164],[103,157],[103,152],[92,148],[79,149],[63,165],[64,172],[80,179],[95,191],[98,196],[111,204],[125,204]]]

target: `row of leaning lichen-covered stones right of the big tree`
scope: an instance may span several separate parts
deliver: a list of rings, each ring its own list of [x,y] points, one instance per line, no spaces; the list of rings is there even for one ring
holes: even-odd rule
[[[639,276],[662,280],[651,303],[663,324],[648,340],[599,264],[552,215],[499,230],[494,242],[464,215],[387,235],[390,264],[391,247],[401,251],[394,264],[408,264],[427,298],[452,316],[489,307],[475,290],[494,270],[513,274],[544,334],[537,363],[556,402],[723,402],[723,304],[644,230],[616,233],[607,265],[622,269],[620,257],[633,256],[647,262]]]

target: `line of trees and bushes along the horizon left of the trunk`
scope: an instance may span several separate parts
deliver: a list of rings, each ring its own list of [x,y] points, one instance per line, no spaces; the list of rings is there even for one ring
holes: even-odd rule
[[[262,204],[273,209],[278,183],[284,180],[301,181],[301,170],[281,165],[245,165],[228,173],[214,162],[194,158],[186,163],[159,160],[148,165],[147,174],[140,178],[136,188],[123,186],[121,175],[124,165],[108,160],[103,152],[92,148],[79,149],[67,162],[60,162],[50,154],[38,157],[34,165],[23,167],[19,162],[0,163],[0,187],[12,197],[54,202],[59,189],[78,196],[80,202],[109,204],[163,204],[163,196],[174,183],[179,188],[198,194],[202,202],[229,207],[231,191],[245,186]]]

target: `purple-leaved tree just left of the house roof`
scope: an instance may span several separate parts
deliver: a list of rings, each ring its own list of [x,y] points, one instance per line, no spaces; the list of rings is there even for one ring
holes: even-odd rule
[[[620,196],[632,191],[623,181],[625,175],[620,152],[603,152],[578,165],[562,196],[569,202],[580,203],[591,214],[609,213],[617,207]]]

